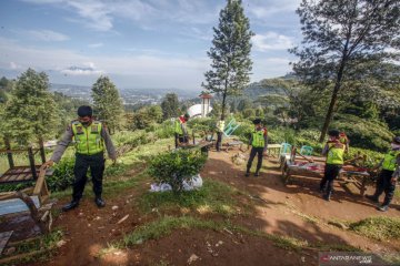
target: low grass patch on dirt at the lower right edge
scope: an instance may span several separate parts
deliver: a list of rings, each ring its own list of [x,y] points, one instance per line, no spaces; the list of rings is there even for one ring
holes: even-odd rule
[[[400,218],[369,217],[350,224],[350,229],[377,241],[400,238]]]

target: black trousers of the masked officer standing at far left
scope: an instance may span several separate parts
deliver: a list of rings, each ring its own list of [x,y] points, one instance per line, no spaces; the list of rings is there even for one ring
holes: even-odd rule
[[[104,155],[102,152],[93,155],[76,154],[76,164],[73,167],[74,182],[72,184],[72,198],[79,201],[82,197],[84,185],[87,183],[87,173],[90,167],[92,176],[93,192],[96,197],[101,197],[102,177],[104,173]]]

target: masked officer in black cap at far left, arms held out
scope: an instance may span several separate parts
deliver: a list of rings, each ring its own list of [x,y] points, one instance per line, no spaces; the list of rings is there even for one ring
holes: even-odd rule
[[[72,121],[58,143],[51,158],[43,164],[44,167],[53,165],[61,160],[61,156],[71,141],[74,141],[76,164],[73,167],[74,182],[72,184],[72,201],[62,207],[62,211],[70,211],[79,205],[87,182],[87,172],[90,167],[94,202],[98,207],[104,207],[101,198],[102,177],[104,172],[104,145],[108,155],[116,162],[117,154],[106,126],[94,121],[92,109],[83,105],[78,109],[78,120]]]

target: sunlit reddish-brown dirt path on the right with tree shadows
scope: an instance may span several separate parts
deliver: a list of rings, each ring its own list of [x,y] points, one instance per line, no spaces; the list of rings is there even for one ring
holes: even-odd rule
[[[244,188],[249,195],[262,200],[258,204],[253,221],[243,221],[247,226],[268,233],[307,239],[310,243],[349,244],[376,253],[400,252],[400,242],[374,242],[366,237],[328,225],[329,221],[358,221],[371,216],[400,216],[399,202],[394,201],[387,213],[378,212],[374,205],[361,196],[353,195],[336,184],[331,202],[321,198],[318,180],[294,178],[284,186],[276,160],[263,166],[260,177],[244,177],[244,165],[231,163],[227,153],[211,153],[202,175],[210,176]],[[370,192],[372,187],[369,188]],[[316,223],[310,223],[314,219]]]

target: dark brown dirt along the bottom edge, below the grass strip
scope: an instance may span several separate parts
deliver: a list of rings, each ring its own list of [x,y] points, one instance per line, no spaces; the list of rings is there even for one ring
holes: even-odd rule
[[[100,265],[318,265],[317,256],[284,250],[261,237],[193,229],[108,254]]]

